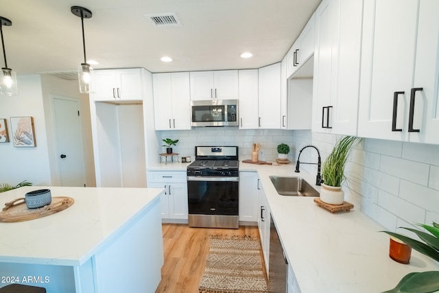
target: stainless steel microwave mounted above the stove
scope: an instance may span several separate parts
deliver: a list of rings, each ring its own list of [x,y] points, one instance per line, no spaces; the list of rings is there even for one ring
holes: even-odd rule
[[[239,126],[237,99],[191,101],[191,126]]]

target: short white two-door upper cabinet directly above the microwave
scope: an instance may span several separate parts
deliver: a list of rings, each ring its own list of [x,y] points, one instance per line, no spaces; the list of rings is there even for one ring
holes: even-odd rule
[[[191,77],[191,100],[238,99],[238,71],[195,71]]]

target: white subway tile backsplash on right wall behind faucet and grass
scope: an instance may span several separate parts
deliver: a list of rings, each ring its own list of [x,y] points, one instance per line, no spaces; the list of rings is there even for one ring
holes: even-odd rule
[[[295,130],[294,159],[303,145],[312,143],[322,152],[323,160],[339,138]],[[317,161],[316,152],[308,150],[302,152],[300,161]],[[316,173],[314,165],[301,165],[300,169]],[[390,231],[439,222],[439,145],[363,139],[346,170],[352,178],[344,186],[346,200]]]

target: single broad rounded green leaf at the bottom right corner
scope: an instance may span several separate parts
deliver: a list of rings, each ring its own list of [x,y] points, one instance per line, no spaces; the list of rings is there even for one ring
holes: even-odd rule
[[[439,290],[439,271],[419,272],[410,277],[401,288],[401,293],[429,293]]]

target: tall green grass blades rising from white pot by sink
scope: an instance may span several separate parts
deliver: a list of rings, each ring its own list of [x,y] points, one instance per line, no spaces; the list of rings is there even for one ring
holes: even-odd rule
[[[344,176],[344,166],[351,150],[359,143],[359,137],[344,137],[335,143],[335,146],[322,165],[322,177],[324,184],[341,187]]]

